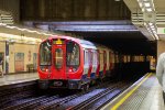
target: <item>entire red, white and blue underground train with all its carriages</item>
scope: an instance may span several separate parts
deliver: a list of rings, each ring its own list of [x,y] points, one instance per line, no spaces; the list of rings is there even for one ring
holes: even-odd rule
[[[113,76],[119,63],[130,63],[132,58],[134,62],[145,61],[143,55],[120,55],[90,41],[50,36],[38,47],[38,86],[41,89],[87,90],[94,80]]]

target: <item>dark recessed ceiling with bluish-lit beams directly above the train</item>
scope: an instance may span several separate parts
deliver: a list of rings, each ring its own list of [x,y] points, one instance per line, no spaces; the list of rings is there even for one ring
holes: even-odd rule
[[[33,22],[33,25],[48,25],[53,32],[84,37],[123,54],[156,53],[156,42],[148,41],[130,21]]]

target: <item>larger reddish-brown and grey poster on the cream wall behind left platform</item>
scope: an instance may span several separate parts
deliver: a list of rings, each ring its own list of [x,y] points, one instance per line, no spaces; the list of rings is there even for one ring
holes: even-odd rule
[[[24,53],[15,53],[15,73],[24,72]]]

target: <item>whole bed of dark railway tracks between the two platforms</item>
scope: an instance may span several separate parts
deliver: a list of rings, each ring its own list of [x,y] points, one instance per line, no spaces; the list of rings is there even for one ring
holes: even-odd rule
[[[34,84],[33,86],[30,86],[30,88],[33,89],[32,91],[28,87],[16,88],[16,90],[23,90],[24,92],[18,92],[16,97],[7,98],[6,95],[12,96],[13,91],[9,91],[7,94],[0,92],[0,96],[6,97],[3,98],[3,103],[0,103],[0,108],[2,108],[3,110],[84,110],[89,108],[99,108],[101,106],[96,106],[96,103],[101,100],[101,98],[105,99],[105,97],[107,96],[107,99],[110,100],[121,92],[121,90],[117,90],[119,88],[122,89],[120,87],[120,84],[121,82],[102,82],[101,85],[89,88],[88,91],[72,92],[67,96],[61,96],[58,94],[51,95],[50,92],[37,95],[37,90],[33,88],[35,87]],[[81,100],[81,102],[76,101],[79,99],[84,100]],[[105,102],[107,102],[107,100],[102,101],[102,105]]]

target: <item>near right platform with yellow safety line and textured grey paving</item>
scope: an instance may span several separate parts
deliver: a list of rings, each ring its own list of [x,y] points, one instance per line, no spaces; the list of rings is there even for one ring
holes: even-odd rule
[[[101,110],[165,110],[162,87],[147,74]]]

